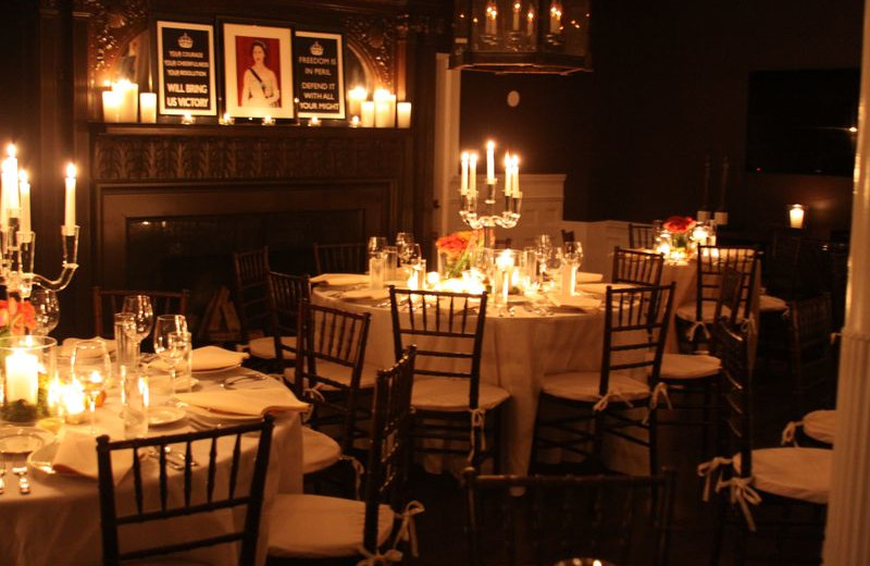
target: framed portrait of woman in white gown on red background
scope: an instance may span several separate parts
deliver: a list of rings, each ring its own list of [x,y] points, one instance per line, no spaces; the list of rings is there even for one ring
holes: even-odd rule
[[[295,118],[293,29],[222,23],[224,104],[233,118]]]

